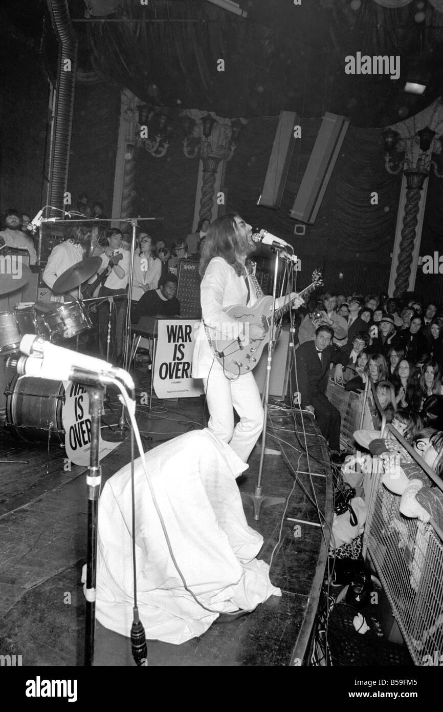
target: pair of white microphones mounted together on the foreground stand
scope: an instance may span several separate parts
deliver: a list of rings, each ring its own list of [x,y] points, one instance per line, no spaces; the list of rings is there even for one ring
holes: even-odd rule
[[[89,373],[89,377],[95,375],[95,382],[98,377],[99,380],[103,378],[102,382],[109,383],[109,377],[113,377],[119,378],[129,389],[135,387],[132,377],[122,368],[114,367],[112,363],[99,358],[55,346],[40,336],[25,334],[20,342],[20,350],[32,357],[31,361],[22,362],[21,368],[26,375],[52,381],[70,381],[79,379],[82,373]]]

